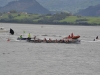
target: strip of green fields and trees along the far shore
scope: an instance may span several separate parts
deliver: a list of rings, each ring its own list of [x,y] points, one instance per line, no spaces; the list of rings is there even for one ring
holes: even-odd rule
[[[62,24],[62,25],[100,25],[100,17],[73,16],[70,13],[27,14],[10,11],[0,13],[0,22],[31,23],[31,24]]]

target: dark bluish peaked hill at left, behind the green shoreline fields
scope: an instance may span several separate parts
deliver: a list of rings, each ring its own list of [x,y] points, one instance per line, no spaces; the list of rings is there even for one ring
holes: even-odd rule
[[[36,0],[12,1],[0,8],[0,12],[9,12],[11,10],[38,14],[50,13],[49,10],[41,6]]]

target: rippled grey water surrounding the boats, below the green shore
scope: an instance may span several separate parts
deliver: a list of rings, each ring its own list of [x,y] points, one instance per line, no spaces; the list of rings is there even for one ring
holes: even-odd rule
[[[0,75],[100,75],[100,41],[93,41],[100,37],[99,26],[1,23],[0,27],[15,31],[13,36],[0,33]],[[16,41],[21,34],[60,39],[72,32],[81,36],[81,44]]]

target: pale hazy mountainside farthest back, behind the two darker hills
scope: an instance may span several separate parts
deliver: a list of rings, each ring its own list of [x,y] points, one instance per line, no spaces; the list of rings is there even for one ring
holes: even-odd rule
[[[18,0],[0,0],[0,6],[6,5],[10,1]],[[76,13],[80,9],[85,9],[89,6],[95,6],[100,3],[100,0],[36,0],[43,7],[50,11],[69,11]]]

